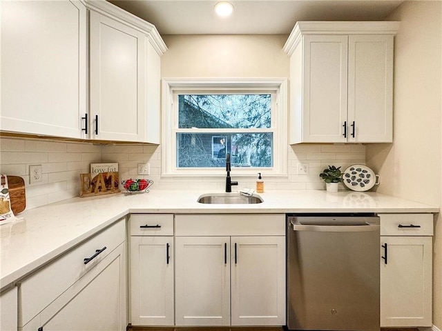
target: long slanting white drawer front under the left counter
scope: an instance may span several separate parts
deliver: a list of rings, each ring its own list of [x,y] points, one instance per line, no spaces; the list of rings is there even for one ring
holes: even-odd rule
[[[83,277],[90,269],[102,261],[126,239],[124,219],[81,243],[59,259],[32,274],[21,283],[21,325],[25,325],[52,301],[57,299],[75,281]],[[102,250],[89,263],[85,258],[93,257],[97,250]]]

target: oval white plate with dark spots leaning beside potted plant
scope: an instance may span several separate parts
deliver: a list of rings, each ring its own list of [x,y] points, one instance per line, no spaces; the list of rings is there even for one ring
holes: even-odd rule
[[[378,176],[373,170],[363,164],[350,165],[344,170],[343,183],[350,190],[362,192],[367,191],[378,184],[376,181]]]

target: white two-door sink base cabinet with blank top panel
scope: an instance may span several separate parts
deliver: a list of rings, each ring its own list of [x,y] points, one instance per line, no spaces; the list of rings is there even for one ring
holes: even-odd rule
[[[176,325],[285,325],[285,215],[177,215],[175,236]]]

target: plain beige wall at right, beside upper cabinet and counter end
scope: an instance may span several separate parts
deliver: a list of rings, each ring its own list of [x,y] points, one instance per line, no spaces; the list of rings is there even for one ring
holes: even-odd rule
[[[394,57],[394,143],[367,145],[378,192],[441,205],[441,1],[407,1],[388,18],[401,21]],[[434,325],[442,329],[442,221],[434,235]]]

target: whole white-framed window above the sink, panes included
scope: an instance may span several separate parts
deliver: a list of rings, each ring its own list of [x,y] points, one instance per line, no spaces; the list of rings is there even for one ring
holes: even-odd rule
[[[163,175],[287,172],[286,80],[163,83]]]

